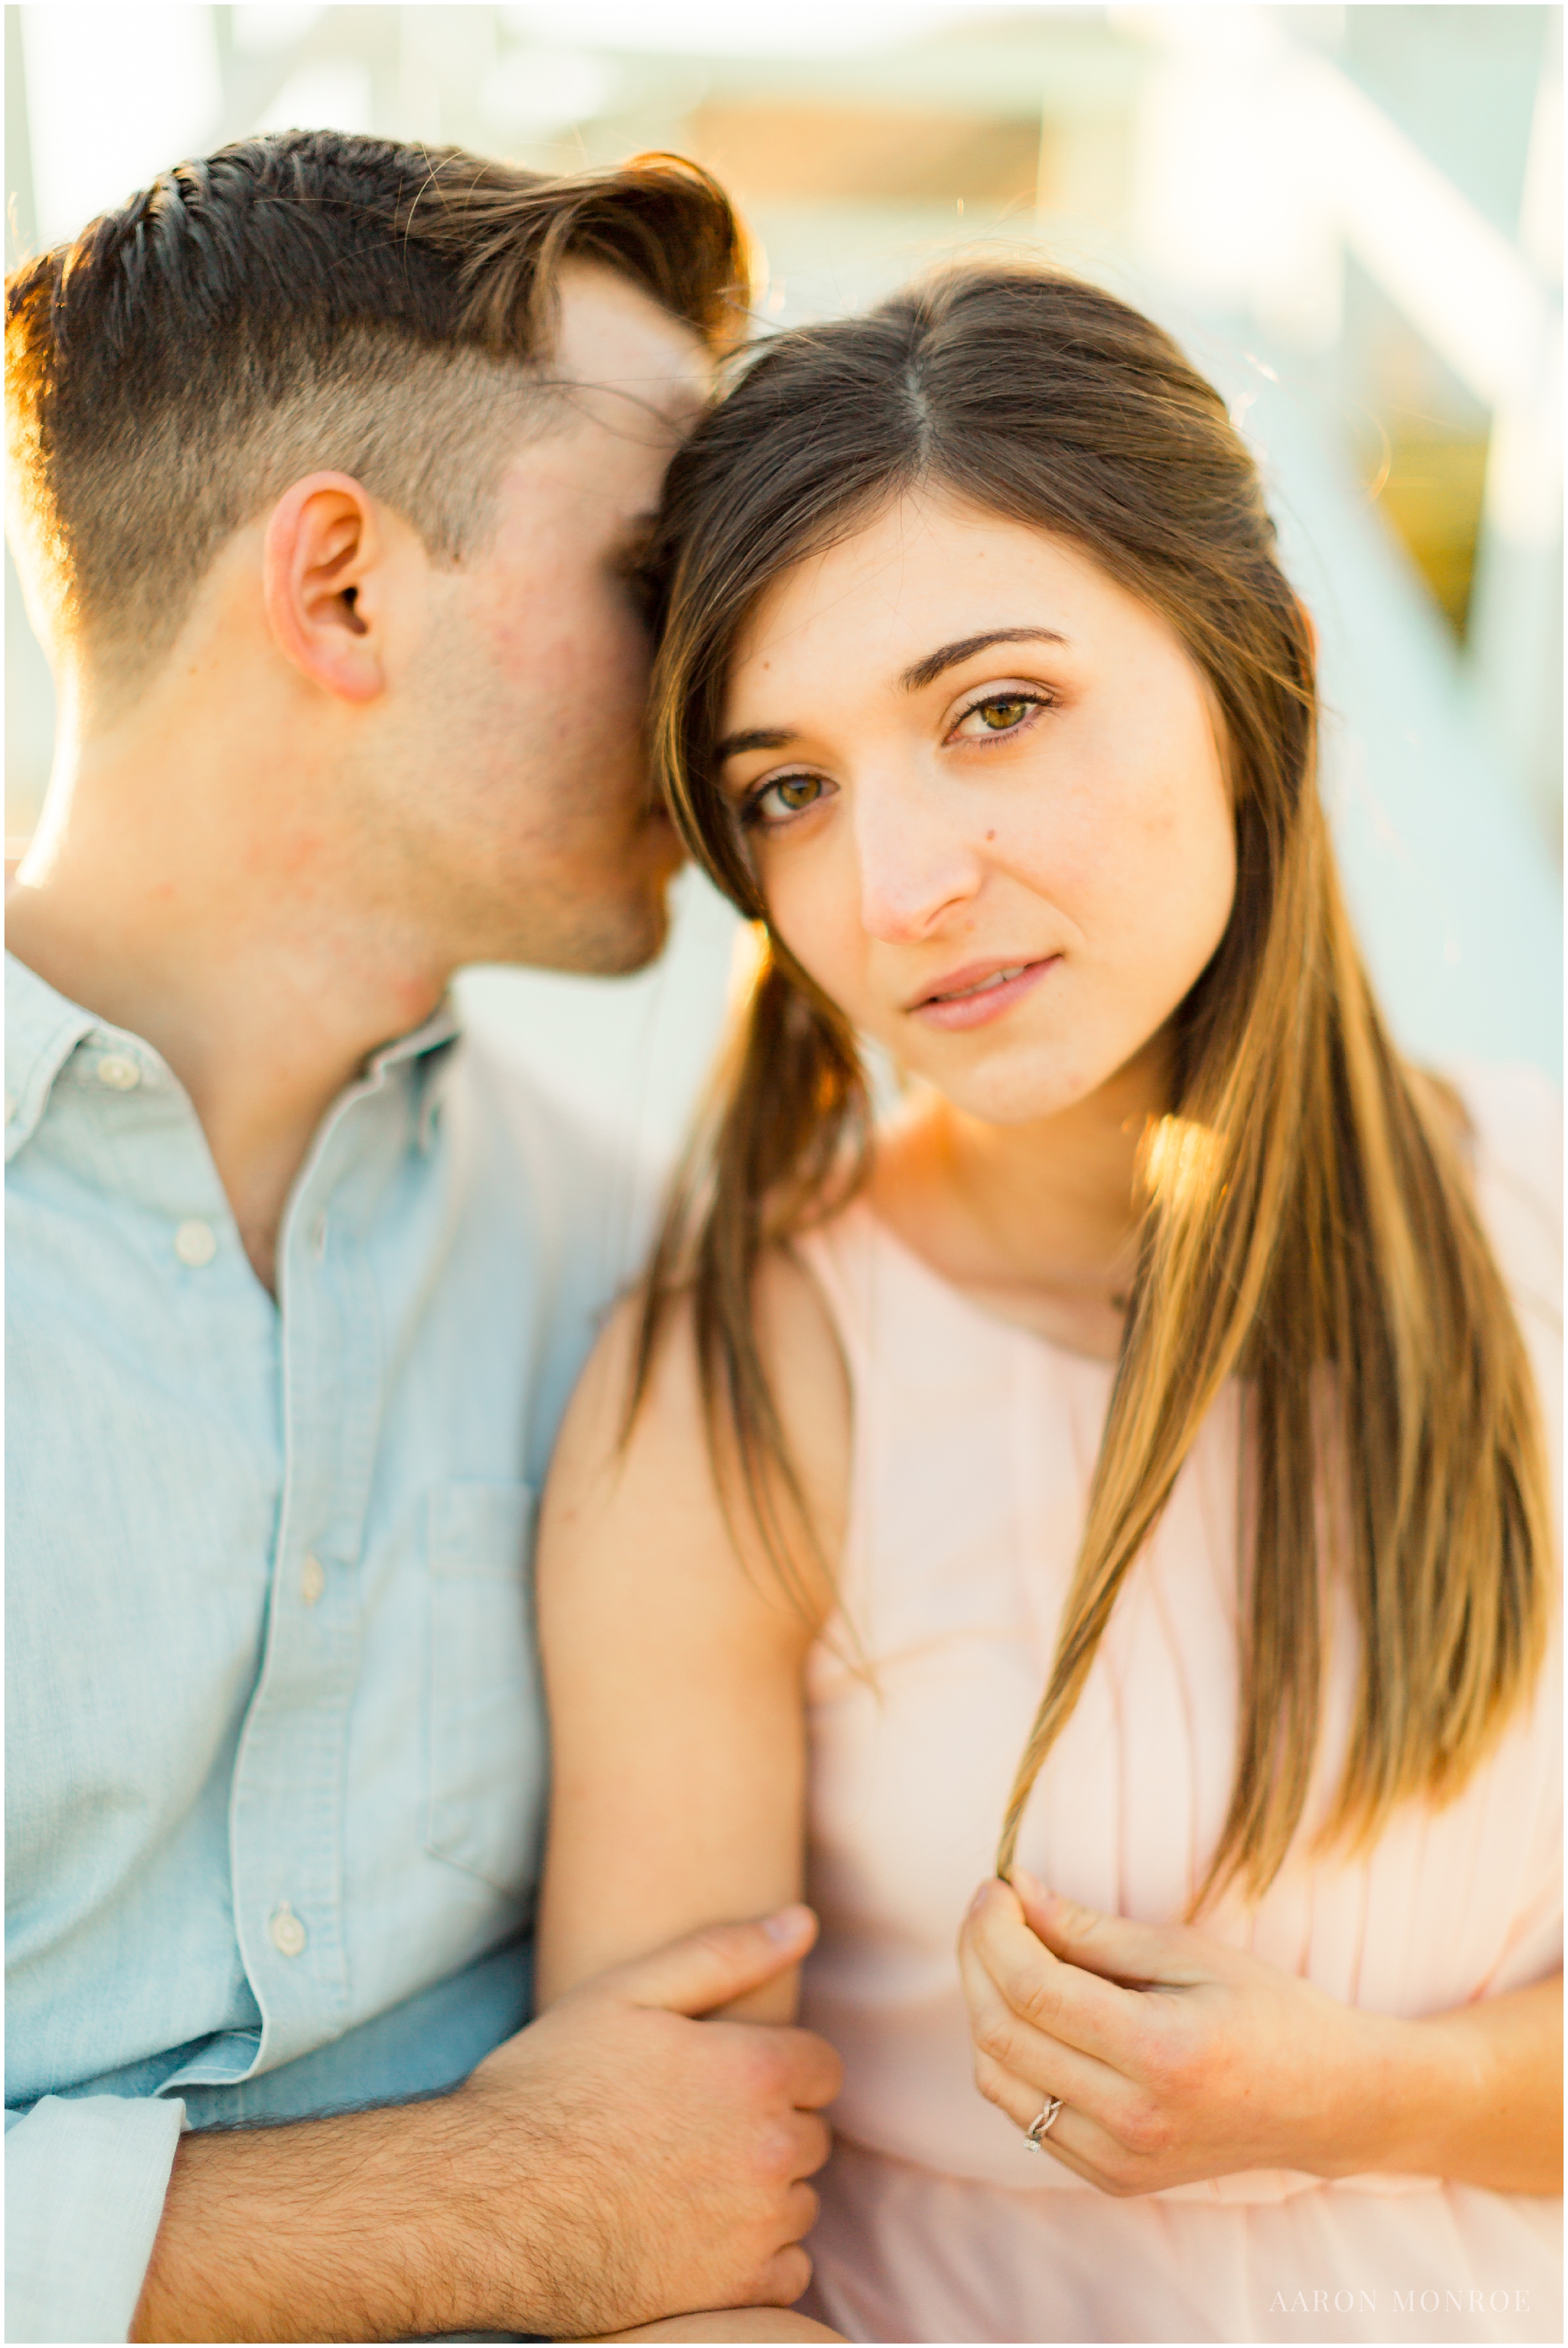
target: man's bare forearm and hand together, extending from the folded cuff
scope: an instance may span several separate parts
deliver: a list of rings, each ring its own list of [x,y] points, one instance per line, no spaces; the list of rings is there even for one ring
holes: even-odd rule
[[[697,2017],[812,1937],[810,1909],[695,1932],[437,2101],[185,2137],[134,2339],[582,2339],[789,2306],[840,2064],[810,2031]]]

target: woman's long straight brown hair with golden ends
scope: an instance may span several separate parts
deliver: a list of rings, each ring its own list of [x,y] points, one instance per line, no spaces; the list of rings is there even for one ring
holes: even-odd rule
[[[1399,1801],[1455,1794],[1526,1700],[1552,1587],[1530,1367],[1455,1104],[1394,1052],[1345,918],[1314,777],[1312,636],[1256,467],[1214,387],[1110,294],[958,270],[871,317],[779,336],[688,444],[664,517],[657,756],[692,855],[768,920],[714,765],[737,632],[789,566],[913,491],[1075,540],[1164,615],[1223,714],[1235,909],[1178,1014],[1082,1550],[998,1855],[1007,1874],[1117,1592],[1237,1381],[1237,1761],[1197,1909],[1232,1878],[1258,1895],[1300,1827],[1331,1576],[1361,1660],[1324,1836],[1364,1846]],[[753,1284],[763,1251],[829,1212],[869,1148],[854,1038],[768,939],[650,1270],[636,1395],[681,1296],[723,1486],[798,1594],[810,1524]]]

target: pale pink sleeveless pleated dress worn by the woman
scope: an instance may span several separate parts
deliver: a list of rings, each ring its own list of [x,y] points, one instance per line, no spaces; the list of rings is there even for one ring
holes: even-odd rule
[[[1556,1449],[1559,1099],[1528,1073],[1460,1082]],[[1289,2172],[1113,2200],[1030,2155],[976,2094],[953,1942],[1045,1686],[1110,1367],[991,1317],[866,1205],[805,1256],[854,1388],[845,1622],[810,1662],[822,1944],[805,2019],[847,2076],[807,2306],[861,2341],[1561,2339],[1559,2200]],[[1232,1395],[1023,1822],[1021,1862],[1075,1900],[1176,1921],[1202,1878],[1232,1768],[1235,1559]],[[1331,1756],[1352,1672],[1340,1641]],[[1554,1653],[1535,1707],[1451,1808],[1401,1813],[1366,1860],[1298,1860],[1258,1907],[1230,1902],[1207,1928],[1390,2015],[1554,1972],[1559,1688]]]

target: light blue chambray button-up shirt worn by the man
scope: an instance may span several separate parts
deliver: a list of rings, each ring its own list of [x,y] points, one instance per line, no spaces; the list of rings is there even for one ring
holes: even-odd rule
[[[533,1505],[636,1212],[441,1012],[279,1301],[157,1052],[7,960],[7,2339],[127,2339],[183,2125],[526,2019]]]

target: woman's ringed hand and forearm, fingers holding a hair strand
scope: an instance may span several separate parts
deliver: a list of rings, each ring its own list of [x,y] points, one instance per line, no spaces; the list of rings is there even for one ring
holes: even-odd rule
[[[1235,2170],[1404,2170],[1559,2191],[1561,1977],[1399,2022],[1185,1925],[1073,1907],[1019,1871],[960,1935],[974,2078],[1103,2193]]]

